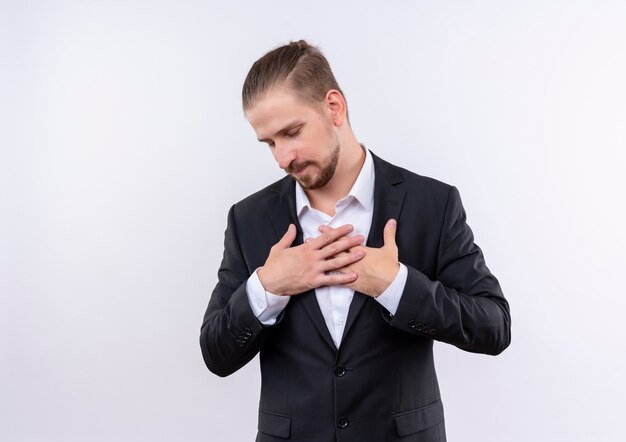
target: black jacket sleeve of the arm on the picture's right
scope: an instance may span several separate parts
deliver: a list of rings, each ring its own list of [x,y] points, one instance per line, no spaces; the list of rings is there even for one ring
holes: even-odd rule
[[[475,353],[497,355],[511,340],[511,317],[500,284],[485,264],[451,187],[437,250],[436,277],[407,266],[406,285],[390,324]]]

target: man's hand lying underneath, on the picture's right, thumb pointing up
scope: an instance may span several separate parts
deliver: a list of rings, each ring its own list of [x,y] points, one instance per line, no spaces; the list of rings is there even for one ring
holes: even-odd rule
[[[331,228],[324,225],[319,227],[321,233],[329,229]],[[349,252],[362,250],[365,256],[357,262],[337,269],[341,273],[355,272],[358,275],[353,282],[343,284],[344,287],[350,287],[373,298],[387,290],[387,287],[389,287],[400,271],[396,229],[397,222],[395,219],[387,221],[383,231],[384,245],[380,249],[357,246],[348,250]]]

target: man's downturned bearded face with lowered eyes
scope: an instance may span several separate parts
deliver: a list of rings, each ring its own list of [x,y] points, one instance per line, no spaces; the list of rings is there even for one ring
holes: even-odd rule
[[[281,87],[261,97],[246,117],[259,141],[270,147],[278,166],[304,189],[324,187],[333,177],[340,144],[323,109]]]

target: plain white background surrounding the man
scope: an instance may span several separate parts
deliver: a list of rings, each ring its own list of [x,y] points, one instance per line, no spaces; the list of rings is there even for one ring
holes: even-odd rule
[[[283,176],[250,65],[319,45],[359,141],[456,185],[510,301],[436,346],[450,441],[623,441],[623,1],[0,3],[0,440],[251,441],[198,344],[231,204]],[[378,442],[378,441],[377,441]]]

